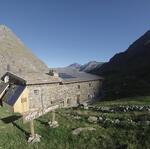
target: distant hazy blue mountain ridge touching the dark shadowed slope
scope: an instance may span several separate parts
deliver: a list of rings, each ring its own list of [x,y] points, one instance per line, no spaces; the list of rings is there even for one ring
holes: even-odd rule
[[[103,62],[90,61],[87,64],[80,66],[79,70],[84,72],[90,72],[94,69],[100,68],[103,64]]]

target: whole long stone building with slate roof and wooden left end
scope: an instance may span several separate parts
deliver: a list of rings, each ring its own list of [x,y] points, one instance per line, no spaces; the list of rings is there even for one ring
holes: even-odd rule
[[[76,106],[100,95],[103,78],[75,69],[55,69],[50,73],[7,72],[3,75],[0,98],[21,114]],[[42,114],[41,114],[42,115]]]

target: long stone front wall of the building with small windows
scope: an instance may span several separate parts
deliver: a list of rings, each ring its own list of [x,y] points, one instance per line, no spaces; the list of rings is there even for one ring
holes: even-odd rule
[[[29,108],[42,109],[59,103],[61,107],[74,106],[99,96],[101,81],[69,84],[43,84],[27,86]]]

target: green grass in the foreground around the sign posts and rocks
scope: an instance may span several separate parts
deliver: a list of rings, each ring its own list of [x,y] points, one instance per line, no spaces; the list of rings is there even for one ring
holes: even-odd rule
[[[143,99],[142,99],[143,98]],[[96,103],[96,106],[117,106],[128,104],[150,104],[149,97],[138,99],[124,99],[123,101],[106,101]],[[145,124],[128,126],[127,119],[150,120],[148,112],[127,113],[101,113],[83,109],[60,109],[56,113],[59,127],[49,128],[47,122],[51,119],[48,113],[35,120],[35,131],[42,136],[40,143],[29,144],[27,136],[30,133],[29,124],[23,124],[22,119],[12,123],[8,119],[12,115],[8,107],[0,108],[0,149],[148,149],[150,148],[150,126]],[[67,116],[79,115],[80,120]],[[123,119],[122,127],[115,125],[92,124],[87,121],[88,116],[105,116],[107,118]],[[7,119],[6,119],[7,117]],[[5,118],[5,119],[4,119]],[[7,123],[6,123],[7,120]],[[10,120],[10,122],[9,122]],[[72,130],[78,127],[94,127],[96,131],[82,132],[79,136],[73,136]]]

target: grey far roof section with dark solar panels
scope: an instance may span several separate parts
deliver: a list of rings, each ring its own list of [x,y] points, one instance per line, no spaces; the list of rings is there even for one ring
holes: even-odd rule
[[[59,77],[62,78],[62,82],[64,83],[103,80],[100,76],[78,71],[73,68],[56,68],[55,70],[58,72]]]

